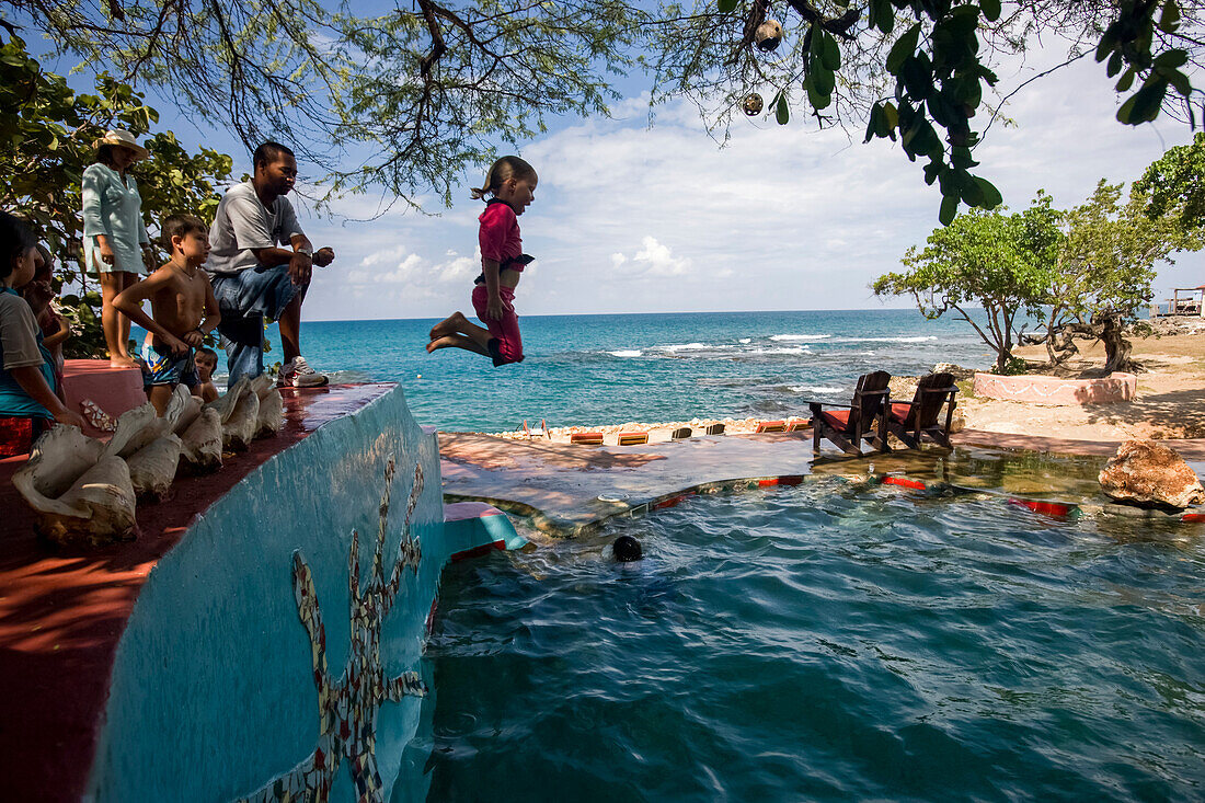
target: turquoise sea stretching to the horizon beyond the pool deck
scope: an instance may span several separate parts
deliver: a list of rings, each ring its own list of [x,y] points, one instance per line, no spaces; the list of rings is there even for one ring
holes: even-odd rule
[[[919,374],[937,362],[986,368],[965,323],[915,310],[522,317],[525,361],[428,354],[428,321],[305,323],[302,353],[333,381],[402,385],[418,421],[445,430],[694,417],[805,415],[848,403],[860,374]],[[275,327],[269,363],[280,359]]]

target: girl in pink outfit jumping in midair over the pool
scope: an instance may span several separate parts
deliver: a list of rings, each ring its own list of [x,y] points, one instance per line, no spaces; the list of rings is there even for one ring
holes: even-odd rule
[[[535,168],[518,157],[502,157],[489,168],[486,186],[474,188],[472,197],[493,195],[477,219],[481,230],[481,275],[472,289],[472,307],[488,329],[470,322],[460,312],[431,328],[427,351],[464,348],[492,357],[494,365],[523,362],[519,318],[515,315],[515,287],[519,274],[533,260],[523,253],[518,216],[535,199],[539,177]]]

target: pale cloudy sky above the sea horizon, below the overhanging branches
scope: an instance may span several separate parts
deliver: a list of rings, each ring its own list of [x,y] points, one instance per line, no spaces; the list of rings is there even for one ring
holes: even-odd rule
[[[1000,87],[1007,92],[1064,58],[1057,46],[1031,51],[1028,63],[998,69]],[[1039,188],[1070,207],[1100,178],[1133,181],[1166,148],[1192,139],[1170,118],[1122,125],[1117,104],[1104,66],[1091,57],[1041,78],[1005,107],[1011,124],[997,121],[976,150],[977,172],[1013,210]],[[186,146],[224,146],[235,175],[249,172],[249,157],[228,133],[198,129],[194,118],[155,105],[160,127]],[[535,203],[519,219],[524,251],[536,257],[518,289],[519,315],[911,305],[869,289],[939,225],[936,187],[897,143],[863,145],[862,125],[821,131],[799,113],[786,127],[768,117],[737,119],[721,147],[686,102],[658,107],[652,125],[647,95],[631,94],[612,112],[552,121],[519,150],[540,175]],[[316,271],[304,318],[470,311],[482,204],[470,200],[469,188],[487,168],[462,177],[451,209],[427,198],[435,215],[399,204],[362,222],[377,213],[378,198],[339,199],[329,215],[294,198],[315,246],[336,254]],[[1156,298],[1201,283],[1205,256],[1180,254],[1175,266],[1160,265]]]

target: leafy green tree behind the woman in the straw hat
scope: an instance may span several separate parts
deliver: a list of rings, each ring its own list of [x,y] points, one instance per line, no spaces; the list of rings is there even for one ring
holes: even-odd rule
[[[24,213],[58,256],[57,279],[72,291],[61,298],[74,335],[64,345],[70,357],[104,353],[100,294],[75,264],[83,233],[81,182],[95,162],[93,142],[112,127],[143,139],[159,113],[142,94],[101,74],[95,94],[77,94],[63,76],[47,72],[30,58],[17,36],[0,42],[0,207]],[[201,148],[189,154],[171,131],[145,140],[151,157],[130,169],[142,195],[151,233],[158,219],[176,212],[213,219],[219,193],[230,177],[230,157]]]

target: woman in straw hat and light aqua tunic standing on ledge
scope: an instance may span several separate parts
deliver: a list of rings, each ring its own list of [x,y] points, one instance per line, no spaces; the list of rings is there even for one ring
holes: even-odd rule
[[[145,272],[143,252],[151,239],[142,223],[142,197],[127,170],[149,152],[122,129],[96,140],[96,162],[83,171],[83,259],[100,276],[100,326],[105,330],[110,365],[129,368],[130,320],[113,307],[113,299]]]

